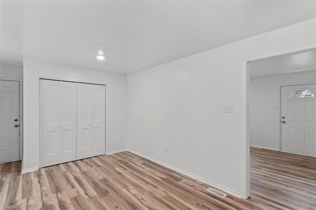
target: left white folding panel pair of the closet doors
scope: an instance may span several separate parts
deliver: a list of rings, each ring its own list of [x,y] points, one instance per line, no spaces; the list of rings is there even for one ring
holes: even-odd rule
[[[40,167],[76,160],[77,84],[40,80]]]

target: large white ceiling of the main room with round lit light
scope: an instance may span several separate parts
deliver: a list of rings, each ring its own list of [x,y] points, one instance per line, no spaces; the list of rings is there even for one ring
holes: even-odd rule
[[[316,17],[314,0],[1,0],[0,62],[130,73]],[[99,48],[107,59],[96,60]]]

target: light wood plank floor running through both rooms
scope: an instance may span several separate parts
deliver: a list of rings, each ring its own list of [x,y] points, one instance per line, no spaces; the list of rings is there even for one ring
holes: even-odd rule
[[[316,209],[316,158],[251,149],[251,196],[222,199],[209,185],[130,152],[21,175],[0,164],[0,206],[22,209]]]

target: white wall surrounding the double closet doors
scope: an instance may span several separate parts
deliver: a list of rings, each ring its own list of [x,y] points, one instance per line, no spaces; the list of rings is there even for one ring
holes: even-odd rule
[[[126,75],[49,64],[31,59],[24,63],[24,157],[22,172],[39,167],[40,78],[106,85],[106,152],[126,149]],[[122,141],[119,142],[119,137]]]

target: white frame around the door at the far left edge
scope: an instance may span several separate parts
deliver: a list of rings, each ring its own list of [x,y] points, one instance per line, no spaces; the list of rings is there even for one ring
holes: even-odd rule
[[[23,160],[23,79],[0,76],[0,80],[19,82],[19,117],[20,117],[19,157],[20,158],[17,160]],[[14,160],[14,161],[17,161],[17,160]],[[8,161],[8,162],[12,162],[12,161]],[[5,163],[5,162],[1,162],[1,163]]]

